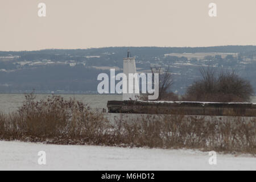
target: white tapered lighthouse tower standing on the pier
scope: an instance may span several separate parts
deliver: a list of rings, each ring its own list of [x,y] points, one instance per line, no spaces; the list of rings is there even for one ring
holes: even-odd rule
[[[126,83],[127,83],[127,92],[123,93],[123,101],[125,100],[137,100],[139,97],[139,82],[138,77],[134,75],[137,73],[136,71],[136,64],[135,64],[135,57],[131,57],[131,53],[128,50],[127,57],[123,58],[123,73],[126,75]],[[130,83],[132,82],[133,85],[129,85],[129,73],[132,73],[135,77],[130,77]],[[131,75],[130,75],[131,76]],[[132,86],[132,92],[131,91]]]

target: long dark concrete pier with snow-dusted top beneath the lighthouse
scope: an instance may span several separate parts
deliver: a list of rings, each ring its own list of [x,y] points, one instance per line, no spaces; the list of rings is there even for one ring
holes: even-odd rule
[[[256,104],[222,102],[108,101],[109,113],[256,117]]]

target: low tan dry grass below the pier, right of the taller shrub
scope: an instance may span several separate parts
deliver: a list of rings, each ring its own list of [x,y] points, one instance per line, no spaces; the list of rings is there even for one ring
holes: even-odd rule
[[[225,117],[229,118],[229,117]],[[129,146],[199,148],[256,154],[256,122],[233,117],[147,116],[118,122],[118,138]]]

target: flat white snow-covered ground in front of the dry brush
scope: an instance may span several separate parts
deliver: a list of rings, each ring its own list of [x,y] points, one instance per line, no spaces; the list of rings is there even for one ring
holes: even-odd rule
[[[38,152],[46,152],[46,165]],[[0,170],[256,170],[250,155],[217,153],[210,165],[208,152],[100,146],[63,146],[0,141]]]

